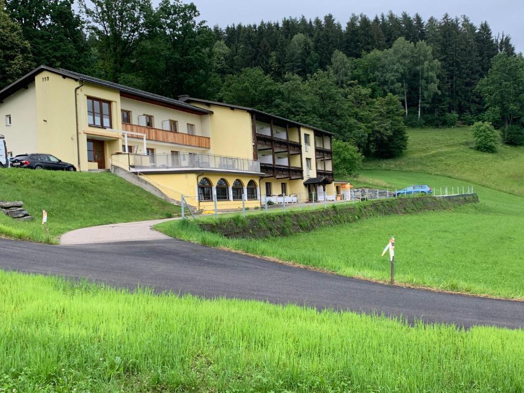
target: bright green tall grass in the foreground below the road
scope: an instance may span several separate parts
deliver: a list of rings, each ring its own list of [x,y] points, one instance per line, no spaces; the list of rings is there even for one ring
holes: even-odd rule
[[[3,392],[520,392],[524,334],[0,271]]]

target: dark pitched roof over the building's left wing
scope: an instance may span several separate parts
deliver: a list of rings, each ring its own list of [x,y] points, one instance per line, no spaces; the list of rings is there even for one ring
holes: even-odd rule
[[[149,93],[143,90],[130,88],[128,86],[124,86],[118,83],[104,81],[103,79],[93,78],[93,77],[90,77],[89,75],[84,75],[79,72],[64,70],[61,68],[57,69],[57,68],[47,67],[46,65],[40,65],[40,67],[35,68],[34,70],[30,71],[29,73],[27,73],[20,79],[8,85],[6,88],[0,90],[0,101],[4,100],[6,97],[17,92],[18,90],[25,88],[29,83],[31,83],[34,80],[35,75],[39,74],[42,71],[53,72],[53,73],[62,75],[62,77],[64,78],[71,78],[77,81],[97,84],[97,85],[104,86],[109,89],[118,90],[119,92],[122,92],[122,93],[127,93],[130,95],[138,96],[146,100],[174,105],[174,106],[180,107],[181,109],[184,109],[186,111],[189,111],[195,114],[203,115],[203,114],[213,113],[212,111],[208,111],[206,109],[199,108],[198,106],[191,105],[187,102],[182,102],[182,101],[171,99],[169,97],[164,97],[158,94],[153,94],[153,93]]]

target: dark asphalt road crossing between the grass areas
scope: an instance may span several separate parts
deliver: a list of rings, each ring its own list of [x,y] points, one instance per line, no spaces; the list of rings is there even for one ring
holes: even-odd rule
[[[154,287],[207,298],[306,304],[409,321],[524,328],[524,302],[391,287],[176,239],[50,246],[0,239],[0,268]]]

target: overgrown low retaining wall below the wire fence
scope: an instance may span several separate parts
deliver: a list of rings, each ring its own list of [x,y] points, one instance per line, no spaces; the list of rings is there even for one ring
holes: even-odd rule
[[[225,219],[221,217],[212,223],[200,223],[199,226],[205,231],[226,237],[288,236],[324,226],[357,222],[367,217],[451,210],[459,205],[476,202],[477,194],[392,198],[354,205],[332,204],[329,208],[317,210],[296,210],[281,214],[259,213],[247,217],[236,215]]]

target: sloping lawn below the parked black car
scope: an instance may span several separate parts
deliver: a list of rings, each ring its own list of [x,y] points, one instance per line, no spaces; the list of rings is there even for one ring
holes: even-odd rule
[[[19,222],[0,214],[0,236],[35,242],[46,242],[44,209],[52,241],[85,226],[163,219],[180,212],[178,206],[107,172],[0,170],[0,200],[21,200],[36,217]]]

